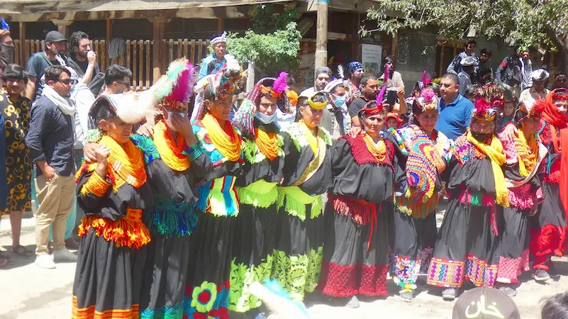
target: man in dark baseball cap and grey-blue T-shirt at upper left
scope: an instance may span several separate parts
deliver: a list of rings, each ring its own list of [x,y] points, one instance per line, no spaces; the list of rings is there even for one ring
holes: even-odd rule
[[[26,89],[26,97],[35,102],[40,98],[45,84],[41,81],[45,68],[53,65],[67,65],[65,53],[67,39],[57,31],[50,31],[45,35],[44,52],[34,53],[28,60],[28,73],[30,80]]]

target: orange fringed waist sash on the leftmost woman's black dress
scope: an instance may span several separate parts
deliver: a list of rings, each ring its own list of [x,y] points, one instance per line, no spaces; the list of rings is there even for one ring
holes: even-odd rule
[[[91,228],[97,236],[113,241],[116,247],[140,248],[150,242],[150,232],[142,222],[141,209],[127,208],[126,216],[121,220],[87,216],[79,225],[79,236],[87,235]]]

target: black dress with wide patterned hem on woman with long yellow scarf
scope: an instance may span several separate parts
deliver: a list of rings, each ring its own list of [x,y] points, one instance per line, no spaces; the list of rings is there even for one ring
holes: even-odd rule
[[[450,195],[442,227],[428,267],[431,286],[458,288],[464,279],[475,286],[493,286],[499,267],[495,254],[501,206],[494,202],[491,162],[466,145],[455,150],[447,168]],[[499,210],[499,211],[498,211]]]

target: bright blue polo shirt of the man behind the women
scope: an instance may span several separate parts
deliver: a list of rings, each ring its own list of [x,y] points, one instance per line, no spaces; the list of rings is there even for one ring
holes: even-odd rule
[[[469,127],[474,105],[460,94],[452,103],[447,105],[440,99],[438,109],[440,110],[440,118],[438,118],[436,130],[444,133],[447,138],[455,140],[465,133]]]

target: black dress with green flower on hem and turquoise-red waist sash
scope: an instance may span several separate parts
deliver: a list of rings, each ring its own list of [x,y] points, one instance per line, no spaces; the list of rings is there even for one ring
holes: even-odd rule
[[[231,251],[239,211],[234,186],[243,166],[243,154],[238,161],[230,161],[213,145],[201,121],[193,124],[193,130],[213,168],[196,180],[199,223],[189,243],[184,317],[228,318]],[[233,138],[240,136],[235,133]]]

